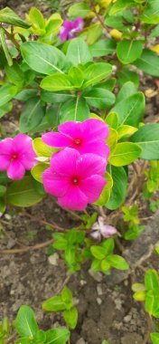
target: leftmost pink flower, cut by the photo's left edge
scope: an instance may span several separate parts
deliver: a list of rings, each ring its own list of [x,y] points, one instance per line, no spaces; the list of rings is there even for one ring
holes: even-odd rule
[[[11,179],[22,179],[25,169],[30,170],[37,163],[32,142],[24,134],[0,141],[0,171],[7,170],[7,176]]]

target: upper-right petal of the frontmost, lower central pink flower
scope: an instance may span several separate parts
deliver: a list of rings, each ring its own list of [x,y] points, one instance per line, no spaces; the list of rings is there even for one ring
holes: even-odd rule
[[[77,171],[79,171],[82,179],[92,175],[104,176],[106,172],[106,159],[98,157],[96,154],[84,154],[77,161]]]

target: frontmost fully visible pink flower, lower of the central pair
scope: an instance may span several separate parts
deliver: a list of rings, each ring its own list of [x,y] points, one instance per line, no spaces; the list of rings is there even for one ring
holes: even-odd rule
[[[59,204],[72,210],[83,210],[98,200],[106,185],[106,160],[94,154],[80,155],[65,148],[51,158],[51,167],[42,174],[43,186],[58,197]]]

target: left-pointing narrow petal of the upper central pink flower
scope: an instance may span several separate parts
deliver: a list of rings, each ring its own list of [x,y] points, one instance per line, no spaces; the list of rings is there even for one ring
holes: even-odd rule
[[[60,134],[59,132],[47,132],[42,135],[42,141],[46,145],[54,148],[66,148],[70,147],[72,140],[66,136]]]

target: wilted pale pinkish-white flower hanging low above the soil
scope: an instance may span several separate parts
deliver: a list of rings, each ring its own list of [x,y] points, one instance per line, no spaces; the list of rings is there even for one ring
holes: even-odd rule
[[[104,238],[110,238],[114,234],[117,234],[117,228],[112,225],[106,225],[102,216],[98,216],[98,222],[95,222],[91,229],[92,233],[90,236],[99,242],[101,241],[102,236],[104,236]]]

